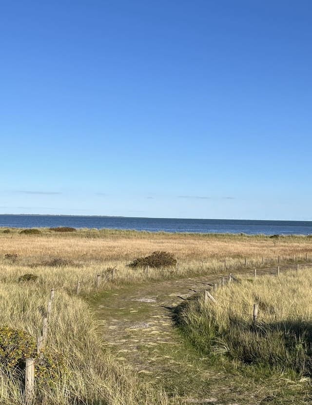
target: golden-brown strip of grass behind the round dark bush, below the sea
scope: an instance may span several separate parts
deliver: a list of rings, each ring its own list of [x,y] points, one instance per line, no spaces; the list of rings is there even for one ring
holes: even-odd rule
[[[63,257],[79,262],[130,261],[159,250],[174,253],[180,261],[246,256],[273,258],[312,252],[312,238],[112,230],[61,234],[42,230],[40,235],[21,235],[18,230],[9,234],[0,231],[0,255],[15,252],[29,260]]]

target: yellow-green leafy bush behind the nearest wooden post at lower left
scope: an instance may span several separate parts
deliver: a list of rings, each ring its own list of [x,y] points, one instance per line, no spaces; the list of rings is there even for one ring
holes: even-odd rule
[[[0,327],[0,366],[10,372],[24,366],[25,359],[34,357],[36,343],[24,330]]]

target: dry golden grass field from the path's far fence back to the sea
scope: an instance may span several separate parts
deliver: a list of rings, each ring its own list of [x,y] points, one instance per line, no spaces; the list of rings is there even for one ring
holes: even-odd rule
[[[177,269],[131,269],[127,265],[138,256],[153,251],[169,251],[179,262]],[[305,258],[312,252],[312,239],[304,236],[280,237],[246,235],[205,235],[149,233],[136,231],[80,230],[56,234],[41,230],[40,235],[23,235],[19,230],[11,233],[0,231],[0,265],[5,271],[0,280],[13,282],[24,273],[39,276],[37,284],[46,288],[65,288],[75,291],[77,280],[81,291],[89,293],[95,289],[97,274],[101,274],[101,287],[109,289],[145,279],[160,279],[173,276],[212,274],[227,268],[241,268],[248,258],[250,268],[281,260]],[[7,253],[17,254],[16,260],[5,259]],[[56,258],[68,261],[68,266],[51,267],[46,263]],[[112,283],[108,267],[115,267]]]

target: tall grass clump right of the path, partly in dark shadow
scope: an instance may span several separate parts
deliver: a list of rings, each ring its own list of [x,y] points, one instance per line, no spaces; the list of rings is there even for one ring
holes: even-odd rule
[[[184,335],[201,352],[312,375],[312,269],[241,279],[186,304]],[[254,323],[254,304],[258,317]]]

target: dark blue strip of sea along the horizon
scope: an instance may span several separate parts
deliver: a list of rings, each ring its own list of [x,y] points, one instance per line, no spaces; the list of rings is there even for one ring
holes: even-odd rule
[[[247,234],[312,234],[312,221],[249,221],[227,219],[127,218],[74,215],[0,215],[0,227],[111,228],[137,231],[218,232]]]

